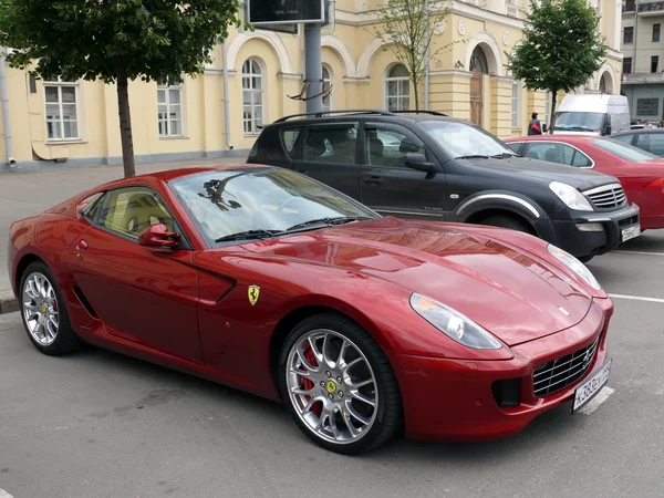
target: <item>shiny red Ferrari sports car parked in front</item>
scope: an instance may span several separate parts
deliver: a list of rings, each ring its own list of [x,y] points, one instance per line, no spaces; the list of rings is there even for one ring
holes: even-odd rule
[[[280,401],[339,453],[508,436],[611,367],[613,304],[567,252],[276,167],[102,185],[15,221],[9,268],[42,353],[91,343]]]

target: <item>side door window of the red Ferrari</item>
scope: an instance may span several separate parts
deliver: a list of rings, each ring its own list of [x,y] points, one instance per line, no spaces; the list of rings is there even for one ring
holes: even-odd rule
[[[100,227],[132,239],[138,239],[147,227],[157,224],[174,230],[175,224],[168,209],[153,190],[145,187],[108,191],[97,221]]]

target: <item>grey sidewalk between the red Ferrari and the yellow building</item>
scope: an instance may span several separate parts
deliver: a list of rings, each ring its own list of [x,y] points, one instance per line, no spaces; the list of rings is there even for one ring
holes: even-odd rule
[[[136,175],[162,169],[242,162],[242,157],[231,157],[138,164],[136,165]],[[17,219],[39,214],[82,190],[123,176],[122,165],[54,166],[52,170],[21,172],[17,169],[0,174],[0,313],[17,309],[7,268],[9,226]]]

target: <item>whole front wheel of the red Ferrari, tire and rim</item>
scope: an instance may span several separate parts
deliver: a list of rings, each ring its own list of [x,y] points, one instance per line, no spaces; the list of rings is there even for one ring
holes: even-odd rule
[[[401,394],[385,353],[344,317],[319,314],[295,326],[281,350],[279,377],[295,423],[326,449],[363,453],[401,426]]]

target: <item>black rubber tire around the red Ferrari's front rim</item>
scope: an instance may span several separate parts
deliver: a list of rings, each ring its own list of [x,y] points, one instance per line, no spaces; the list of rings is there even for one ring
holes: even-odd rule
[[[287,367],[291,349],[309,332],[325,329],[345,336],[362,352],[373,370],[377,387],[377,407],[375,419],[370,429],[352,443],[333,443],[319,436],[300,418],[298,408],[293,406],[287,385]],[[281,397],[300,429],[319,446],[344,455],[356,455],[377,448],[402,427],[403,408],[398,383],[394,371],[383,350],[375,340],[352,320],[335,313],[321,313],[299,323],[288,335],[279,359],[279,387]]]

